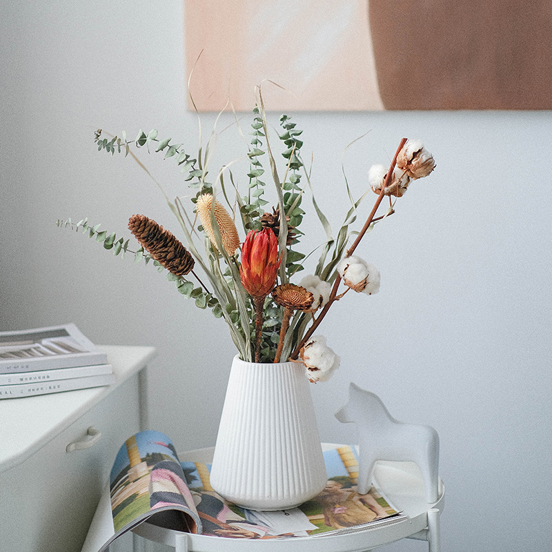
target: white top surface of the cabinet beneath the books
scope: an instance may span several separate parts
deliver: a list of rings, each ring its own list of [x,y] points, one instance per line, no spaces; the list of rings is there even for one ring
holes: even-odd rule
[[[68,428],[155,355],[146,346],[99,346],[113,366],[110,386],[0,400],[0,473],[21,464]]]

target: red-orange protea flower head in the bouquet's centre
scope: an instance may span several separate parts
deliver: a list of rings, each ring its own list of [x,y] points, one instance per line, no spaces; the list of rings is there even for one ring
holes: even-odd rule
[[[252,297],[266,297],[274,288],[280,261],[278,240],[270,228],[250,230],[242,247],[239,275]]]

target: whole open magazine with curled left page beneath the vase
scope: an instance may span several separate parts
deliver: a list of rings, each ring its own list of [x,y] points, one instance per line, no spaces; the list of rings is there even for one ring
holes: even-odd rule
[[[328,484],[313,500],[286,511],[251,511],[213,491],[210,464],[179,462],[166,435],[141,431],[117,454],[82,552],[103,552],[143,522],[221,538],[272,539],[358,531],[400,517],[374,487],[356,492],[354,446],[324,451],[324,460]]]

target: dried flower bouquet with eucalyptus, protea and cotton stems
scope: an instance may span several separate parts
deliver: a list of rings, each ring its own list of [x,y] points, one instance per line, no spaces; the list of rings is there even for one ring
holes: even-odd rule
[[[366,193],[357,201],[351,200],[351,208],[336,239],[331,237],[328,221],[313,197],[315,212],[328,239],[322,244],[314,273],[294,284],[291,280],[303,269],[302,263],[308,256],[297,250],[297,246],[305,214],[302,201],[311,183],[301,157],[302,131],[286,115],[279,123],[282,134],[278,137],[286,146],[281,170],[273,155],[263,99],[257,89],[257,107],[251,124],[253,139],[248,148],[248,189],[244,195],[239,192],[228,167],[219,170],[215,182],[208,181],[209,144],[204,150],[200,146],[197,159],[193,159],[181,144],[158,139],[157,130],[147,135],[140,131],[134,141],[128,141],[125,133],[121,138],[108,139],[101,136],[101,130],[97,131],[95,141],[99,150],[111,154],[124,152],[137,160],[132,147],[146,146],[149,152],[155,146],[155,152],[164,152],[165,159],[175,159],[186,174],[188,186],[196,191],[187,207],[181,197],[173,201],[165,195],[187,247],[145,215],[133,215],[129,220],[130,232],[140,244],[136,251],[130,251],[128,239],[117,239],[115,233],[108,235],[99,230],[99,225],[90,226],[87,219],[77,224],[72,224],[70,219],[58,221],[58,225],[88,233],[115,255],[133,253],[136,261],[152,260],[160,271],[166,269],[168,279],[176,282],[181,294],[195,299],[199,308],[211,308],[215,317],[224,317],[239,355],[245,361],[302,362],[311,382],[325,381],[339,366],[339,357],[322,335],[315,335],[319,324],[331,306],[349,290],[371,295],[380,287],[377,268],[353,253],[368,228],[394,212],[396,199],[392,197],[402,197],[411,181],[433,171],[435,162],[420,141],[402,139],[391,166],[373,166],[368,172],[368,184],[377,199],[352,244],[349,244],[353,234],[351,225]],[[265,199],[264,155],[268,157],[268,172],[275,192],[272,204]],[[225,172],[230,174],[230,185],[224,179]],[[385,196],[389,198],[389,206],[377,217]],[[223,199],[227,207],[221,203]],[[266,210],[268,204],[270,210]],[[246,235],[243,243],[237,226],[242,226]],[[202,253],[199,242],[203,242]],[[202,279],[194,270],[196,265],[205,275]],[[340,291],[342,285],[344,290]]]

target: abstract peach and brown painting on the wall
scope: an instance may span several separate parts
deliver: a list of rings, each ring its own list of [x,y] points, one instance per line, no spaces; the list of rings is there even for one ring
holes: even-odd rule
[[[271,110],[552,109],[551,0],[184,0],[184,8],[200,111],[227,101],[248,111],[264,82]]]

